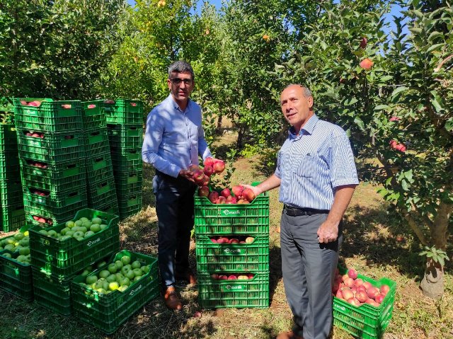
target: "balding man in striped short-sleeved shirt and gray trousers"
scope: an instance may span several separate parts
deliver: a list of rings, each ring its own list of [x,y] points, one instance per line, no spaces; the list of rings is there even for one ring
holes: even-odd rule
[[[280,96],[292,127],[275,173],[252,188],[280,186],[282,274],[294,315],[292,331],[277,339],[326,339],[333,323],[332,285],[343,240],[341,219],[359,183],[346,133],[314,114],[308,88],[292,84]]]

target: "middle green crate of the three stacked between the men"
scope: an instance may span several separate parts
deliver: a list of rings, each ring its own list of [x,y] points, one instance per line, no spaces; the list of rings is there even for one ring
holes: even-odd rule
[[[217,236],[217,235],[216,235]],[[269,270],[269,236],[249,235],[251,243],[213,243],[214,235],[196,238],[197,272]],[[235,236],[237,237],[237,236]],[[246,236],[242,236],[245,239]]]

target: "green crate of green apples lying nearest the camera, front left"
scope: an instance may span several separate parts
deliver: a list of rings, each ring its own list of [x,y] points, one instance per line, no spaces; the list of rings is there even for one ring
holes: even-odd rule
[[[118,280],[118,272],[129,278]],[[113,333],[159,295],[157,259],[120,251],[87,277],[76,277],[71,283],[71,293],[74,316],[78,320],[104,333]]]

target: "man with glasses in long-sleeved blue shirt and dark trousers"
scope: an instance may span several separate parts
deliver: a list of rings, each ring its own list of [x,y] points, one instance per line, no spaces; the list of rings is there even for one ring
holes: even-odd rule
[[[156,168],[153,191],[159,220],[159,270],[166,305],[175,310],[182,309],[175,280],[196,283],[188,260],[196,188],[190,166],[198,166],[198,155],[203,160],[212,156],[201,108],[189,99],[194,77],[187,62],[173,62],[168,67],[171,93],[149,113],[142,146],[143,161]]]

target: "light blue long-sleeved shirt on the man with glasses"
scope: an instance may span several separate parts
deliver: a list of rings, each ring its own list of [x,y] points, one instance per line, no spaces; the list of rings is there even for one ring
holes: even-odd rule
[[[198,154],[203,160],[212,156],[202,127],[201,108],[189,100],[183,112],[170,94],[147,117],[142,159],[177,178],[181,169],[198,165]]]

